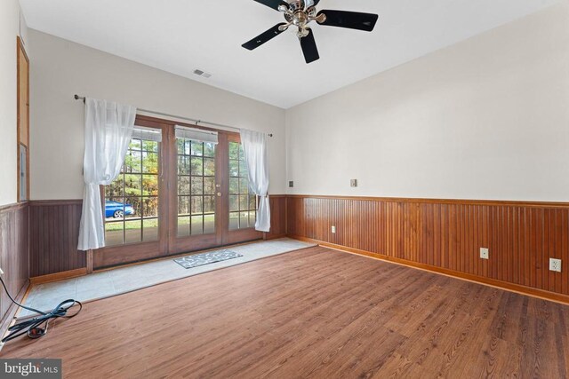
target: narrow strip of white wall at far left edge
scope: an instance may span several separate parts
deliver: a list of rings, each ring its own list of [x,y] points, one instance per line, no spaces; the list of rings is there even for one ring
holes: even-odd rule
[[[21,29],[25,37],[23,18]],[[18,200],[16,36],[19,34],[18,0],[0,1],[0,206]]]

